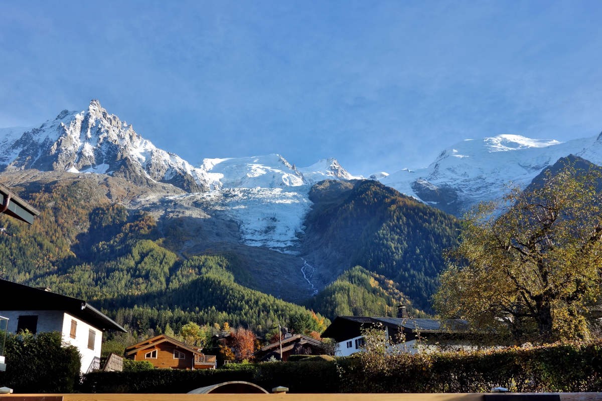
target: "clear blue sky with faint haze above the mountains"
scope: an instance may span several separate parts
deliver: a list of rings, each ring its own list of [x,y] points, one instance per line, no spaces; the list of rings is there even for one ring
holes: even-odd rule
[[[600,1],[0,0],[0,127],[99,99],[203,158],[430,164],[465,138],[602,130]]]

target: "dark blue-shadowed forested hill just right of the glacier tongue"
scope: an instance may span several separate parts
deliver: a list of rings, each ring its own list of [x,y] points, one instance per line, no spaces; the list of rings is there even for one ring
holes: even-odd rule
[[[309,196],[314,207],[304,240],[306,249],[317,249],[314,259],[338,266],[337,276],[362,266],[430,310],[442,253],[457,243],[456,218],[373,180],[324,181]]]

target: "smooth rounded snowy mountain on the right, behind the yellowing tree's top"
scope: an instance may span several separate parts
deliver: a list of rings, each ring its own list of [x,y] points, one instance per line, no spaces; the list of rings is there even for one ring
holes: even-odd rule
[[[446,148],[427,168],[380,179],[398,191],[461,215],[468,207],[500,198],[508,185],[529,185],[559,158],[577,155],[602,163],[602,135],[568,142],[498,135],[466,139]]]

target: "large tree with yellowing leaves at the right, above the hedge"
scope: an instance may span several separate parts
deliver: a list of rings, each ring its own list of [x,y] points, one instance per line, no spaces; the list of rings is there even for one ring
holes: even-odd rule
[[[480,328],[508,328],[517,340],[588,337],[602,272],[599,183],[594,168],[565,163],[469,213],[435,308]]]

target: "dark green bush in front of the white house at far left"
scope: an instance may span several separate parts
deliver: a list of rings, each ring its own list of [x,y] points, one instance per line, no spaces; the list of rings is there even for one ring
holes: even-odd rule
[[[79,383],[79,352],[60,332],[8,334],[5,357],[0,386],[15,393],[72,393]]]

